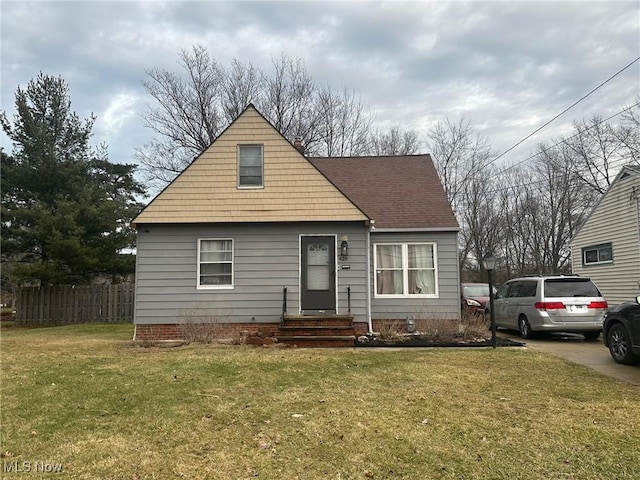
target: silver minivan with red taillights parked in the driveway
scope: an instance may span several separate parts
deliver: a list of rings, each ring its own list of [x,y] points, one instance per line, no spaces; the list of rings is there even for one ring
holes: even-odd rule
[[[500,286],[494,310],[496,326],[518,330],[522,338],[567,332],[594,340],[602,331],[607,302],[586,277],[522,277]]]

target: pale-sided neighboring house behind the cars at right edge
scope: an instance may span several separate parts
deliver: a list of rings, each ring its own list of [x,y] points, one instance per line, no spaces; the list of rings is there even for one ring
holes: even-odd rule
[[[571,240],[573,273],[609,305],[640,295],[640,166],[625,166]]]

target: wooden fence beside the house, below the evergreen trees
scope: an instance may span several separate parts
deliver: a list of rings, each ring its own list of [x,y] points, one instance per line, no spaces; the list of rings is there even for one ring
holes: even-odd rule
[[[131,283],[19,287],[16,325],[132,322],[133,293]]]

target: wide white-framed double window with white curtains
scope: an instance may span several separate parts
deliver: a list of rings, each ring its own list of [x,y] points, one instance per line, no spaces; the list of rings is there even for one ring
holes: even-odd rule
[[[374,245],[377,297],[437,297],[436,246],[433,243]]]

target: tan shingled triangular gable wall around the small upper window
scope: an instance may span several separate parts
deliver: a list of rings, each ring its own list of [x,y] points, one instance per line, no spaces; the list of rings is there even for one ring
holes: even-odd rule
[[[238,144],[262,144],[264,188],[237,187]],[[133,220],[146,223],[368,221],[249,105]]]

